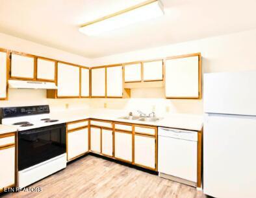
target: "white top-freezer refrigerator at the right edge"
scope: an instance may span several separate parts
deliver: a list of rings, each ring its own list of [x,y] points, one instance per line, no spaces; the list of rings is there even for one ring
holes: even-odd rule
[[[203,192],[256,197],[256,71],[204,75]]]

